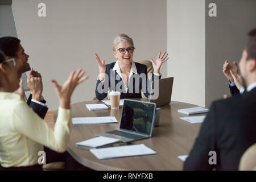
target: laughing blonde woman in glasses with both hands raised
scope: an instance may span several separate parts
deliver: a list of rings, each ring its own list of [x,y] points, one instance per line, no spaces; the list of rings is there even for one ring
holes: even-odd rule
[[[108,89],[121,92],[120,98],[141,98],[141,91],[146,97],[150,94],[150,83],[147,78],[147,67],[144,64],[133,61],[134,43],[128,35],[119,34],[113,41],[113,55],[117,61],[105,65],[105,60],[100,60],[96,55],[99,68],[99,76],[96,84],[96,97],[98,100],[104,99],[108,94]],[[151,80],[160,79],[161,65],[168,60],[168,53],[161,55],[159,52],[157,59],[151,59],[154,74]]]

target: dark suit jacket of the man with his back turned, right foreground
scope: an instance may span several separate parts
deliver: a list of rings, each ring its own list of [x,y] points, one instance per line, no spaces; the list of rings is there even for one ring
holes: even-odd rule
[[[184,170],[238,170],[241,156],[256,142],[256,88],[213,102]],[[216,151],[217,164],[208,160]]]

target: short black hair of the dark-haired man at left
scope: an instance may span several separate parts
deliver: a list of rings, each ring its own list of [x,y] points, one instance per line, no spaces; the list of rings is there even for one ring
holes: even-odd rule
[[[20,40],[13,36],[4,36],[0,38],[0,49],[6,56],[15,57],[18,51]]]

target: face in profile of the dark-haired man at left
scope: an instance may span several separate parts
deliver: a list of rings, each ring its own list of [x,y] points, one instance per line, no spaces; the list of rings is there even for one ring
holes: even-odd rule
[[[18,51],[16,52],[16,56],[14,57],[16,60],[16,67],[18,70],[18,77],[20,78],[22,73],[30,71],[30,64],[27,63],[28,56],[25,52],[23,47],[19,44]]]

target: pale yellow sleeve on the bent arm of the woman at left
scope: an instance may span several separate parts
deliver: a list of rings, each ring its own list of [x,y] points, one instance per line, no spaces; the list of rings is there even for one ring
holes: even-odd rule
[[[71,130],[71,113],[69,109],[59,107],[55,131],[43,121],[26,102],[15,106],[12,114],[14,130],[26,135],[26,137],[51,148],[57,152],[67,150],[69,134]]]

